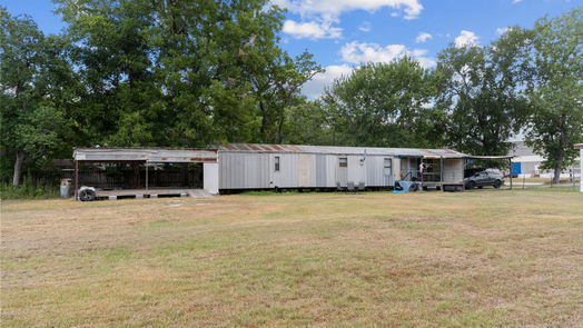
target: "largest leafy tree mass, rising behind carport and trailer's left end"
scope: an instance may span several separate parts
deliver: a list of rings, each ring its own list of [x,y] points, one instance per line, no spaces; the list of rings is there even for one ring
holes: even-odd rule
[[[57,2],[78,46],[91,143],[278,141],[314,67],[278,48],[283,16],[267,0]]]

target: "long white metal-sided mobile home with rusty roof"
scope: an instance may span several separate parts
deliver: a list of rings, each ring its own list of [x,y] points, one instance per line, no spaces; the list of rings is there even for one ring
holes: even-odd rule
[[[426,185],[462,185],[467,155],[451,149],[230,143],[218,148],[219,189],[325,189],[394,187],[419,175]],[[431,179],[429,179],[431,177]]]

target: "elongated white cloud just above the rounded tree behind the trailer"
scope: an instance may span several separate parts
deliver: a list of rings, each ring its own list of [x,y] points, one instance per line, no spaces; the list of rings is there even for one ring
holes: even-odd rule
[[[403,44],[388,44],[381,47],[377,43],[366,42],[349,42],[342,47],[340,56],[343,61],[349,63],[367,63],[367,62],[391,62],[403,56],[415,58],[423,67],[432,67],[435,61],[425,57],[427,50],[413,49],[409,50]]]

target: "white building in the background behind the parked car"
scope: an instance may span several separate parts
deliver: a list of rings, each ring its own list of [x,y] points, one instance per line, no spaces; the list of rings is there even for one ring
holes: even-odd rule
[[[514,149],[508,155],[514,156],[512,159],[513,171],[517,172],[518,178],[552,178],[552,170],[542,170],[541,163],[545,160],[544,157],[534,153],[533,149],[524,143],[524,141],[515,141]],[[575,148],[577,145],[575,145]],[[575,159],[572,167],[564,168],[561,172],[561,178],[569,179],[571,177],[581,177],[581,158]]]

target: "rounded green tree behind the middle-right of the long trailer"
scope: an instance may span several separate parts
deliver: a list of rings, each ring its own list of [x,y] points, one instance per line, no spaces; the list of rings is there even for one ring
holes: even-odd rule
[[[444,116],[431,107],[434,96],[431,71],[404,57],[355,69],[336,80],[323,100],[337,143],[438,147]]]

